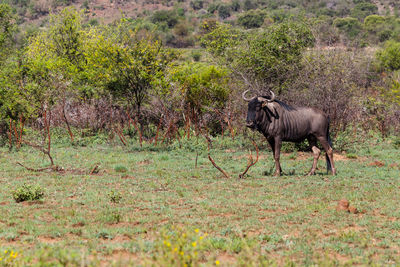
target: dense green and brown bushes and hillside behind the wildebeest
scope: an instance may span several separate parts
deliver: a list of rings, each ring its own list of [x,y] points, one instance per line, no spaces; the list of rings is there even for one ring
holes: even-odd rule
[[[234,136],[248,88],[323,109],[336,134],[349,125],[396,133],[399,8],[370,0],[3,1],[4,142],[21,142],[23,125],[65,125],[72,142],[74,129],[141,142],[226,129]]]

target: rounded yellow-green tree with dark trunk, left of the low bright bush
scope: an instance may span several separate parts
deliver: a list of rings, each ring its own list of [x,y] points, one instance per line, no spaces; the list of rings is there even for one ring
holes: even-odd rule
[[[117,103],[136,110],[142,124],[144,102],[174,60],[172,50],[146,31],[122,19],[116,26],[90,32],[86,54],[88,77]]]

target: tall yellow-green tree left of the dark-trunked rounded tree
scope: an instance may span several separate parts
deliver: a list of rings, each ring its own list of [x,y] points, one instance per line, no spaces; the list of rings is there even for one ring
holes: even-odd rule
[[[66,8],[52,15],[48,30],[30,39],[25,52],[26,69],[36,99],[38,113],[45,112],[61,101],[64,121],[73,141],[65,106],[67,99],[76,96],[86,59],[83,54],[85,34],[82,30],[82,12]],[[40,104],[39,104],[40,103]]]

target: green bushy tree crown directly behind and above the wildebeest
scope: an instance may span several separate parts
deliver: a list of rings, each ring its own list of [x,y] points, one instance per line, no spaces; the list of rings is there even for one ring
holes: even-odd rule
[[[285,22],[255,33],[236,33],[220,25],[203,37],[203,44],[248,85],[279,93],[296,76],[302,52],[314,38],[302,23]]]

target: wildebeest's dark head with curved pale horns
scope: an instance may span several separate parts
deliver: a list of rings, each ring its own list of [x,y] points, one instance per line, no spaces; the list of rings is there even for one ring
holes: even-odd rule
[[[275,94],[271,92],[270,97],[266,96],[254,96],[252,98],[246,98],[246,94],[250,90],[243,92],[242,97],[245,101],[249,102],[247,109],[247,118],[246,118],[246,126],[250,129],[255,129],[257,127],[258,122],[262,119],[262,110],[265,107],[272,105],[272,102],[275,100]]]

